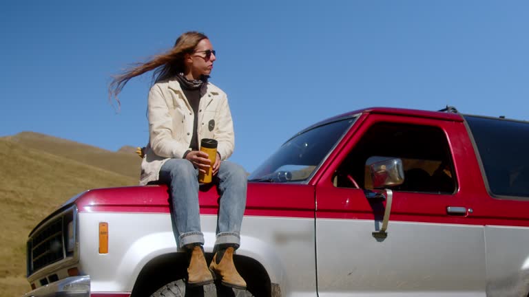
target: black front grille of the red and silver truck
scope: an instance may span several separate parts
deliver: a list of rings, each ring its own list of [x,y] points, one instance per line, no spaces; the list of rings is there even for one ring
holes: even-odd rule
[[[44,221],[28,239],[28,276],[33,272],[72,256],[68,243],[68,223],[74,219],[70,208]]]

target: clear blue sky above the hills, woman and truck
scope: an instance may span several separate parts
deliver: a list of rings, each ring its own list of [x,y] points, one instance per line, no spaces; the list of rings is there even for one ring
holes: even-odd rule
[[[529,1],[3,1],[0,136],[116,151],[148,141],[151,76],[107,84],[185,31],[217,51],[231,160],[248,171],[306,126],[384,106],[529,120]]]

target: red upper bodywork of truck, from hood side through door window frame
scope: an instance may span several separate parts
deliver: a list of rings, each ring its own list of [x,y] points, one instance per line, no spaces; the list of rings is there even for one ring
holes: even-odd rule
[[[466,225],[529,226],[529,201],[490,197],[477,156],[460,115],[404,109],[369,109],[361,113],[344,140],[329,155],[309,184],[249,183],[245,215],[318,219],[382,219],[383,201],[368,200],[360,189],[335,188],[336,168],[369,126],[402,122],[437,126],[448,138],[458,188],[454,195],[394,192],[391,221]],[[215,186],[200,188],[200,213],[218,214]],[[169,213],[167,186],[135,186],[90,190],[76,200],[79,212]],[[316,207],[317,206],[317,207]],[[446,212],[448,206],[472,209],[465,217]]]

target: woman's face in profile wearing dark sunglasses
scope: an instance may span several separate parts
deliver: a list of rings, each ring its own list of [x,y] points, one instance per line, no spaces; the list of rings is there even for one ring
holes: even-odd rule
[[[213,45],[211,45],[209,39],[201,40],[196,45],[195,52],[190,54],[186,59],[189,74],[192,76],[191,78],[199,79],[203,75],[209,76],[216,59]]]

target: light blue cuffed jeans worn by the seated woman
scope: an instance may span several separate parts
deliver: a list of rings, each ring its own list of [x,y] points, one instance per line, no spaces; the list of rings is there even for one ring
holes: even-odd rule
[[[198,169],[187,159],[169,159],[160,168],[160,181],[169,186],[180,247],[204,244],[198,207]],[[240,224],[246,208],[247,175],[228,161],[220,162],[213,182],[220,192],[215,245],[240,245]]]

